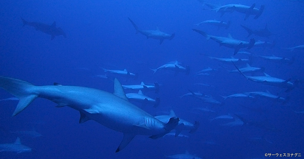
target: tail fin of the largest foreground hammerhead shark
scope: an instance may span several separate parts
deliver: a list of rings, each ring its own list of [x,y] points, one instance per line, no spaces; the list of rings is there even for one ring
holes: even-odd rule
[[[23,111],[38,97],[38,94],[33,91],[36,86],[26,81],[0,76],[0,87],[19,98],[19,103],[12,117]]]

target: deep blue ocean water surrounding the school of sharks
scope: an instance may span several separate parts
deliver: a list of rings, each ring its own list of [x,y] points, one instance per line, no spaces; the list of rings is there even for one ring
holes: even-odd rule
[[[206,1],[207,2],[207,1]],[[189,137],[164,137],[156,140],[137,135],[122,151],[115,153],[123,133],[111,130],[95,121],[79,124],[79,112],[37,98],[24,111],[11,118],[17,101],[0,103],[0,144],[13,143],[17,135],[12,131],[32,130],[35,128],[42,137],[22,137],[21,143],[33,148],[28,153],[0,152],[0,158],[166,158],[168,155],[189,151],[201,158],[263,158],[265,153],[304,153],[303,137],[303,89],[302,65],[303,50],[289,51],[284,48],[303,45],[303,10],[301,1],[264,0],[264,1],[208,1],[216,5],[242,4],[256,8],[265,5],[262,15],[254,15],[244,21],[245,14],[239,12],[220,13],[208,10],[208,6],[196,0],[176,1],[3,1],[0,5],[0,75],[28,81],[35,85],[76,85],[113,91],[113,82],[95,75],[105,75],[102,68],[112,70],[126,69],[138,72],[138,79],[117,77],[122,84],[146,84],[158,82],[160,92],[147,92],[145,95],[161,99],[157,108],[134,102],[149,114],[168,114],[173,109],[179,118],[189,122],[200,121],[198,130]],[[51,35],[26,25],[40,22],[64,30],[67,37]],[[135,34],[136,30],[128,18],[143,30],[157,27],[168,34],[175,33],[172,40],[160,41]],[[205,20],[228,22],[228,29],[211,25],[199,25]],[[273,33],[269,38],[251,35],[240,25],[252,30],[263,29],[267,25]],[[279,87],[248,81],[240,74],[226,71],[236,69],[233,65],[222,64],[205,55],[230,58],[232,48],[219,44],[192,29],[207,32],[209,35],[249,41],[274,42],[273,48],[253,47],[254,55],[278,56],[295,59],[292,64],[274,63],[257,56],[235,55],[234,58],[250,59],[250,65],[264,67],[265,73],[291,82],[299,80],[299,87],[289,92]],[[243,49],[244,50],[244,49]],[[205,55],[202,55],[205,54]],[[188,65],[190,75],[174,71],[159,70],[155,74],[150,68],[158,68],[170,61]],[[193,76],[204,68],[218,69],[209,76]],[[241,67],[241,66],[240,66]],[[250,75],[251,74],[247,74]],[[254,76],[263,75],[256,73]],[[113,77],[113,76],[111,76]],[[210,84],[214,87],[194,85]],[[223,102],[222,105],[204,103],[194,97],[180,98],[189,90],[201,92]],[[250,91],[266,91],[283,98],[290,98],[285,104],[265,98],[223,100],[220,95]],[[137,93],[125,90],[126,93]],[[0,99],[13,97],[3,89]],[[192,108],[208,107],[216,111],[193,112]],[[165,111],[165,112],[164,112]],[[220,115],[234,114],[249,121],[242,126],[223,126],[234,121],[212,121]],[[255,123],[255,124],[250,124]],[[261,138],[261,139],[252,139]],[[273,157],[273,156],[272,156]]]

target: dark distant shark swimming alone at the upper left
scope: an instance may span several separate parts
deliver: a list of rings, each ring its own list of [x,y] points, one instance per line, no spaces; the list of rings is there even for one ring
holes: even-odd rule
[[[67,35],[64,33],[64,31],[60,27],[58,27],[58,28],[56,27],[56,22],[53,22],[52,25],[47,25],[47,24],[38,23],[38,22],[27,22],[23,18],[21,18],[21,19],[23,22],[23,26],[29,25],[29,26],[36,28],[36,30],[49,34],[52,36],[51,40],[53,40],[55,38],[55,36],[59,36],[59,35],[63,35],[63,37],[65,37],[65,38],[67,37]]]

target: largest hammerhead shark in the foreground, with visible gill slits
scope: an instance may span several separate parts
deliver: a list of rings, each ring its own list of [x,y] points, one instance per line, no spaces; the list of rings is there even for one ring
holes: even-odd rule
[[[38,97],[49,99],[57,103],[57,107],[68,106],[79,111],[79,123],[94,120],[112,130],[123,132],[123,141],[116,152],[126,147],[137,134],[157,139],[169,133],[179,122],[179,118],[172,117],[168,123],[163,123],[130,103],[116,78],[113,93],[88,87],[54,84],[35,86],[26,81],[0,76],[0,87],[19,98],[12,117]]]

